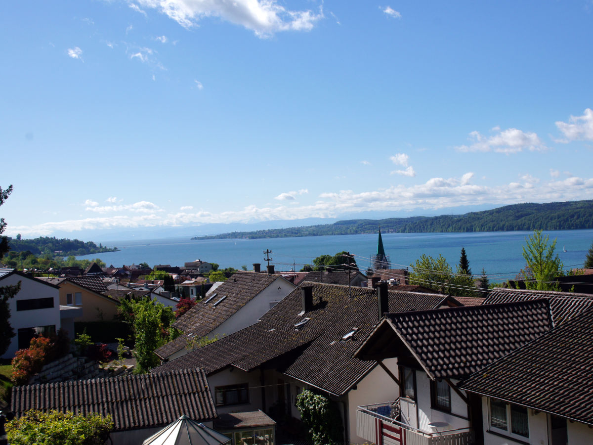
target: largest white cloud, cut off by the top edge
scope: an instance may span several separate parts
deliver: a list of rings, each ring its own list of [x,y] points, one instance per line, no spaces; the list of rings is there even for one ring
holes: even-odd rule
[[[309,31],[323,18],[319,12],[286,9],[277,0],[138,0],[144,8],[154,8],[183,27],[197,26],[200,20],[219,17],[267,37],[278,31]]]

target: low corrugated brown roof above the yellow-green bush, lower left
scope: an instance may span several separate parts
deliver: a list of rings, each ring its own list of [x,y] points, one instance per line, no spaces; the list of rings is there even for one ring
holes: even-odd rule
[[[186,414],[195,420],[216,417],[206,375],[200,369],[15,386],[12,411],[57,409],[75,414],[111,414],[114,431],[169,424]]]

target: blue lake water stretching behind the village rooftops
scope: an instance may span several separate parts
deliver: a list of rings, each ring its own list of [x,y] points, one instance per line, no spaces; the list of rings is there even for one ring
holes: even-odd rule
[[[488,275],[498,275],[500,281],[514,278],[525,261],[521,256],[525,237],[532,232],[479,232],[479,233],[388,233],[382,234],[385,253],[390,257],[393,268],[409,266],[423,253],[436,256],[442,254],[449,264],[459,262],[461,247],[465,247],[470,268],[474,275],[480,275],[482,267]],[[585,262],[586,253],[593,241],[593,230],[558,230],[545,234],[550,240],[557,239],[556,252],[565,268],[578,267]],[[364,271],[370,265],[369,258],[377,253],[377,235],[338,235],[318,237],[274,238],[257,240],[189,240],[177,237],[154,240],[114,241],[103,243],[117,246],[120,252],[79,256],[79,259],[100,258],[109,266],[130,265],[146,262],[151,266],[170,264],[183,266],[184,262],[202,259],[218,263],[221,268],[240,269],[252,263],[264,263],[263,251],[272,250],[271,264],[278,271],[289,271],[295,264],[296,270],[305,263],[311,263],[317,256],[346,250],[356,256],[356,263]],[[566,247],[567,252],[563,252]],[[498,281],[491,276],[490,281]]]

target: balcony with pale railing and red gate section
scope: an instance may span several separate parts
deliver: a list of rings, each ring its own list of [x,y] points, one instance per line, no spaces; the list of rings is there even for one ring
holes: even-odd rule
[[[436,425],[434,429],[437,428]],[[474,434],[470,428],[457,428],[426,433],[400,421],[400,399],[395,402],[359,406],[356,410],[358,436],[377,445],[471,445]]]

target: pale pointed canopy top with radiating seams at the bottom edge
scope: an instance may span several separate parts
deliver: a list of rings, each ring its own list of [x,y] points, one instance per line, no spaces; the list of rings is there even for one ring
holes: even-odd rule
[[[230,437],[182,415],[147,438],[142,445],[221,445],[230,441]]]

